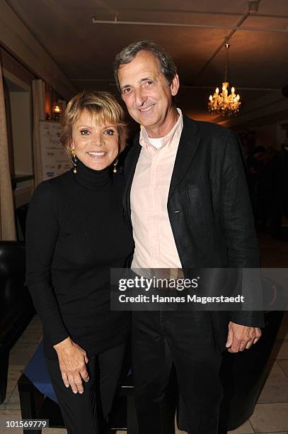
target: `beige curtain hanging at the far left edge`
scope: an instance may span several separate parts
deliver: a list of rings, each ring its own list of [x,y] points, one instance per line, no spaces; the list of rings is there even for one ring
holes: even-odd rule
[[[4,86],[0,59],[0,240],[16,240],[16,226],[8,157]]]

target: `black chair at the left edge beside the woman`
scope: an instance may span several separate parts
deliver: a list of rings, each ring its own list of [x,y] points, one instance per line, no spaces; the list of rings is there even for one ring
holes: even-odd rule
[[[35,314],[25,284],[25,246],[17,241],[0,242],[0,404],[5,400],[8,358]]]

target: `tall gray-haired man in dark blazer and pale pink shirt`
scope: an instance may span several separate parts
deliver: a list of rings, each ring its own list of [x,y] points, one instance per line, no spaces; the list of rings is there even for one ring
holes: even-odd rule
[[[132,268],[258,267],[236,135],[192,121],[175,108],[177,70],[154,43],[129,45],[114,67],[129,114],[142,125],[127,157]],[[260,338],[262,325],[261,314],[248,311],[231,312],[228,318],[219,312],[135,312],[132,351],[140,433],[174,432],[165,395],[174,363],[188,432],[216,434],[221,351],[225,343],[230,352],[248,349]]]

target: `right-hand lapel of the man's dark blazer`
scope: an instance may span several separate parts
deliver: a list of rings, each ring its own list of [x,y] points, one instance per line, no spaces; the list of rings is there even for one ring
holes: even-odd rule
[[[183,116],[183,130],[175,158],[175,164],[168,193],[168,201],[170,201],[175,189],[185,177],[185,174],[192,163],[193,157],[200,143],[200,137],[197,136],[197,131],[197,123],[192,121],[192,119],[188,118],[187,116]]]

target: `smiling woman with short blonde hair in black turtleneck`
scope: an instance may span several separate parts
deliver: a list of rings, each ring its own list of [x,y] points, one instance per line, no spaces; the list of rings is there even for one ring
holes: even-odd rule
[[[129,333],[129,315],[110,311],[110,268],[133,250],[117,172],[126,134],[112,95],[74,96],[62,125],[74,169],[42,182],[28,211],[27,281],[69,434],[103,432]]]

